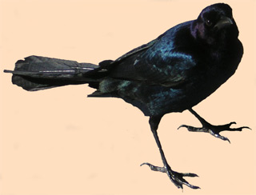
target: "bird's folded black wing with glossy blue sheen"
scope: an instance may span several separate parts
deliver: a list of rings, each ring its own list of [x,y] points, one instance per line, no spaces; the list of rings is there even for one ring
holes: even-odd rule
[[[155,39],[118,58],[110,76],[162,86],[178,86],[187,82],[197,64],[194,58],[170,46],[158,45],[159,41]]]

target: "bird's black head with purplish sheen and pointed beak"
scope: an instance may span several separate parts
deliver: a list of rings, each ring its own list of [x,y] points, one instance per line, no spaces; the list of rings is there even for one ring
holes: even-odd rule
[[[225,3],[207,6],[192,23],[191,34],[209,45],[238,38],[231,7]]]

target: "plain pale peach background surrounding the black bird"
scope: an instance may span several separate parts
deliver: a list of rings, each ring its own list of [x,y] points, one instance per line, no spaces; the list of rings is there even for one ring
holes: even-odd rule
[[[237,73],[194,109],[214,124],[248,125],[224,132],[177,130],[199,125],[188,111],[162,118],[158,132],[170,166],[202,189],[177,189],[162,165],[148,118],[115,98],[86,98],[93,90],[66,86],[35,93],[10,82],[14,63],[35,54],[98,63],[115,59],[165,30],[198,17],[216,1],[0,1],[2,195],[255,194],[255,1],[228,0],[245,54]]]

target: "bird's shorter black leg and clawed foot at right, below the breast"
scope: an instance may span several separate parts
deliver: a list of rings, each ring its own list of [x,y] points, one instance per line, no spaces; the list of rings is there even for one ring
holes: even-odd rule
[[[194,116],[197,117],[198,120],[202,123],[202,127],[194,127],[194,126],[190,126],[190,125],[180,125],[178,127],[178,129],[181,127],[186,127],[186,129],[188,129],[189,131],[210,133],[214,137],[217,137],[224,141],[229,141],[229,142],[230,142],[230,140],[227,137],[224,137],[224,136],[220,135],[219,133],[222,131],[242,131],[242,129],[250,129],[248,126],[242,126],[239,128],[230,128],[230,125],[236,124],[236,122],[230,122],[229,124],[226,124],[226,125],[211,125],[205,119],[200,117],[198,115],[198,113],[194,112],[193,109],[189,109],[189,110],[190,110],[190,113],[193,113]]]

